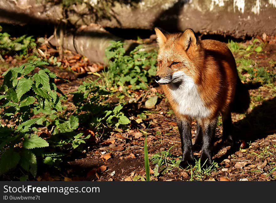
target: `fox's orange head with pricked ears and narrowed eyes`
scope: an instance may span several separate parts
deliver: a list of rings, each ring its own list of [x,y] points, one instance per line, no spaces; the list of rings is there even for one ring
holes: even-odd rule
[[[199,80],[199,62],[201,46],[192,29],[186,29],[183,33],[163,34],[155,28],[157,44],[159,47],[157,56],[157,73],[155,81],[159,84],[181,84]]]

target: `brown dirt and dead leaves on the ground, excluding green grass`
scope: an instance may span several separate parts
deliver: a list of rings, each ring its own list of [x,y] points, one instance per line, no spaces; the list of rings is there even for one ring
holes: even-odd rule
[[[243,42],[250,44],[250,40]],[[275,72],[276,64],[268,64],[269,60],[276,61],[276,44],[267,43],[263,52],[252,55],[251,59],[258,64],[270,66]],[[69,59],[76,54],[70,51],[65,54]],[[78,58],[78,57],[77,57]],[[80,58],[76,61],[81,60]],[[73,60],[73,58],[71,59]],[[69,60],[68,60],[69,61]],[[74,63],[76,63],[74,61]],[[12,61],[8,61],[12,63]],[[85,65],[84,65],[85,66]],[[84,67],[83,66],[83,67]],[[90,64],[90,67],[98,65]],[[72,73],[68,70],[50,69],[68,82],[61,82],[58,87],[67,95],[76,91],[78,86],[85,79],[95,78],[94,75],[86,74],[85,71]],[[77,70],[76,70],[77,72]],[[150,95],[162,94],[162,90],[157,84],[152,84]],[[61,170],[43,168],[38,170],[39,174],[33,180],[95,180],[95,181],[130,181],[145,179],[144,167],[144,142],[147,134],[147,147],[149,163],[151,168],[151,180],[154,181],[187,181],[187,180],[210,180],[210,181],[268,181],[275,180],[276,170],[276,98],[269,88],[252,83],[250,86],[252,97],[261,95],[263,101],[254,101],[254,108],[250,108],[246,114],[232,114],[235,133],[238,136],[236,147],[223,147],[221,143],[222,127],[216,128],[216,138],[214,144],[213,159],[217,163],[210,173],[201,173],[196,176],[193,167],[182,169],[180,167],[167,167],[164,173],[154,175],[153,169],[156,167],[152,163],[151,157],[156,153],[168,151],[169,162],[172,159],[179,160],[182,156],[181,143],[178,133],[177,123],[173,112],[167,102],[162,97],[158,99],[155,107],[146,109],[144,101],[139,104],[130,104],[131,108],[145,112],[146,119],[140,123],[134,122],[134,117],[129,112],[128,117],[133,121],[130,130],[121,133],[111,133],[109,138],[99,137],[96,143],[92,143],[85,148],[82,154],[66,156]],[[137,91],[142,94],[143,91]],[[72,96],[68,96],[68,108]],[[253,101],[252,101],[253,102]],[[133,106],[134,105],[134,106]],[[196,133],[196,122],[192,124],[192,141],[194,142]],[[199,159],[200,152],[194,152],[195,158]],[[165,166],[164,164],[163,166]],[[167,165],[169,166],[169,165]],[[13,175],[12,175],[13,174]],[[14,173],[4,176],[6,180],[13,180]],[[12,177],[13,176],[13,177]]]

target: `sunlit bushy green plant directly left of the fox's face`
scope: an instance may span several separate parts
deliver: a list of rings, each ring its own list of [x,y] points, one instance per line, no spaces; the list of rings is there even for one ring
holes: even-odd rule
[[[105,85],[130,87],[132,90],[146,89],[156,72],[156,52],[146,52],[137,46],[125,55],[124,44],[112,42],[105,50],[109,60],[108,70],[103,72]]]

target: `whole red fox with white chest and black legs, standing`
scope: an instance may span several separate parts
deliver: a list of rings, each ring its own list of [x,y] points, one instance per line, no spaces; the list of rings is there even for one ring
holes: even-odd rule
[[[243,113],[250,103],[233,54],[223,42],[199,40],[193,29],[170,34],[155,28],[157,72],[155,81],[176,116],[181,138],[181,165],[194,164],[193,147],[201,147],[200,162],[212,163],[218,116],[222,117],[222,141],[233,147],[231,112]],[[191,122],[197,121],[194,146]]]

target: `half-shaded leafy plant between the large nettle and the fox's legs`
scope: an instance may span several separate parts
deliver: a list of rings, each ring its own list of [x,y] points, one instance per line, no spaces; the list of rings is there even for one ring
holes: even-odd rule
[[[111,93],[101,86],[98,81],[83,82],[76,92],[73,92],[73,101],[82,124],[87,123],[91,128],[119,128],[119,125],[130,123],[123,112],[123,103],[109,101]]]

